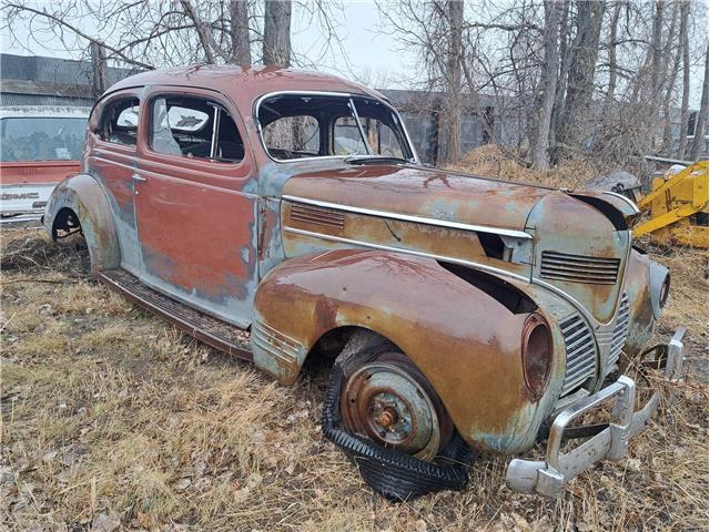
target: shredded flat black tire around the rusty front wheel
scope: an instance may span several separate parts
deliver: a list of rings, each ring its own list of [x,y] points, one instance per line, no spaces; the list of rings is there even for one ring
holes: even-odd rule
[[[426,462],[344,429],[339,410],[343,382],[363,361],[390,348],[386,339],[366,331],[353,336],[331,370],[323,407],[323,432],[357,463],[363,479],[387,499],[407,500],[434,491],[463,489],[468,482],[474,453],[458,433],[434,461]]]

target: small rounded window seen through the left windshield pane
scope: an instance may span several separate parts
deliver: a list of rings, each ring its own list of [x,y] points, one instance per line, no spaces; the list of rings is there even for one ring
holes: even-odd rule
[[[300,158],[321,153],[318,121],[308,115],[284,116],[264,127],[264,143],[277,158]]]

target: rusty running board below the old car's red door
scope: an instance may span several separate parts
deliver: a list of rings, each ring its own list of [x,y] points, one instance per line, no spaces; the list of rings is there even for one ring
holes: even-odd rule
[[[174,324],[179,329],[215,349],[252,360],[250,334],[176,301],[142,283],[125,269],[109,269],[98,274],[99,280],[138,306]]]

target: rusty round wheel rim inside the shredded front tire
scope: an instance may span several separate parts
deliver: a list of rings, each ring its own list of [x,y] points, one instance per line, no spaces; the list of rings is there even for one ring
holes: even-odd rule
[[[408,360],[382,357],[346,380],[341,396],[345,428],[422,460],[436,457],[442,416],[426,379]]]

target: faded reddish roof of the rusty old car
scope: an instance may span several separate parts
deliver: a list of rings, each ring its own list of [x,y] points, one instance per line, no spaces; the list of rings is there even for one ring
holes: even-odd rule
[[[192,65],[151,70],[119,81],[104,94],[146,85],[173,85],[209,89],[230,96],[242,113],[257,98],[286,91],[344,92],[387,100],[372,89],[337,75],[277,66]]]

